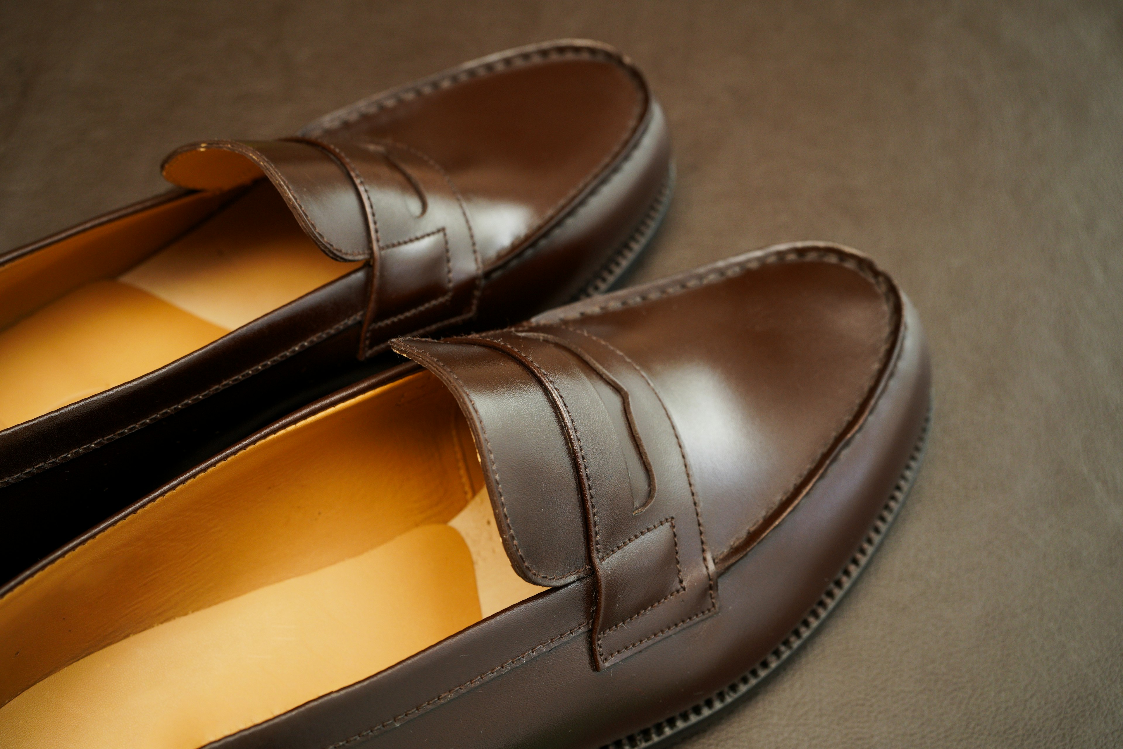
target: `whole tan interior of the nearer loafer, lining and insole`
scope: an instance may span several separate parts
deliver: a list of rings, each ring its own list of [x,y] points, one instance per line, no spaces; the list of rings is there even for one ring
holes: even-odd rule
[[[237,453],[0,599],[0,746],[201,747],[542,590],[508,560],[453,396],[418,373]]]

